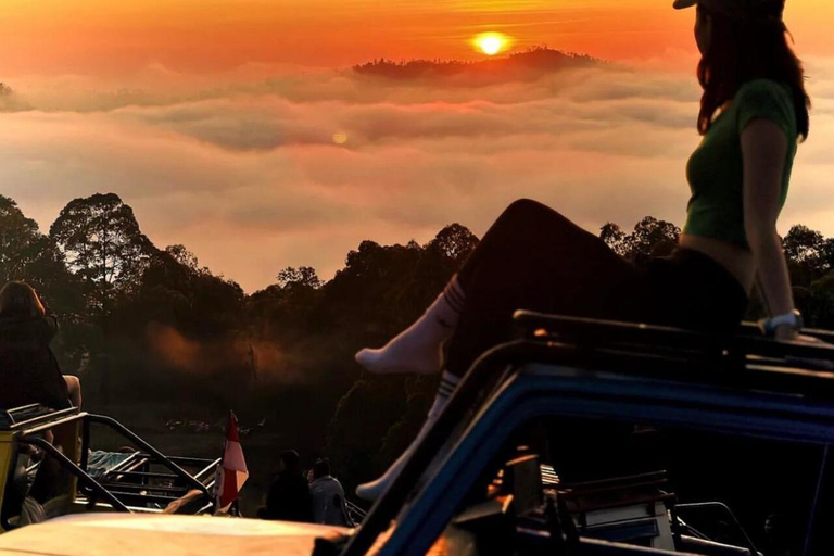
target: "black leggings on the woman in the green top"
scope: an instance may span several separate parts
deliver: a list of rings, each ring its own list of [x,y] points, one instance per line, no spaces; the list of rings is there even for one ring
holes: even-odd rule
[[[466,293],[447,344],[446,369],[462,376],[513,334],[513,313],[652,323],[729,331],[747,306],[738,281],[707,255],[678,248],[631,263],[557,212],[516,201],[457,275]]]

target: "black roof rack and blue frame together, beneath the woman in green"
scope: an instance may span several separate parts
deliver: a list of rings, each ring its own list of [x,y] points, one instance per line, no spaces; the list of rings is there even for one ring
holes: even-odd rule
[[[427,548],[478,466],[533,417],[591,415],[820,444],[834,439],[834,374],[816,365],[834,361],[834,346],[775,341],[749,324],[710,334],[531,312],[515,318],[521,338],[473,363],[342,556],[366,554],[397,515],[381,551]],[[831,332],[812,333],[834,340]],[[439,462],[441,448],[458,439]],[[826,472],[820,471],[822,490]]]

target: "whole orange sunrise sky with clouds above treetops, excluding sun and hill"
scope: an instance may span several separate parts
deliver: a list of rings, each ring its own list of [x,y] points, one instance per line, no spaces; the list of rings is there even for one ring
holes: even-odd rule
[[[509,200],[593,229],[683,222],[694,12],[671,0],[2,0],[0,193],[48,229],[113,191],[160,247],[253,291],[329,277],[363,239],[482,233]],[[782,226],[834,235],[834,2],[788,0],[816,111]],[[462,87],[378,84],[377,58],[485,58],[480,33],[616,62]],[[3,104],[4,103],[4,104]],[[635,140],[636,138],[636,140]]]

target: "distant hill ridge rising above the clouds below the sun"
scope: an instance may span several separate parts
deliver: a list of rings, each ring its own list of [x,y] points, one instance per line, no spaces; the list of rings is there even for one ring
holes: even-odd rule
[[[490,58],[478,62],[456,60],[409,60],[393,62],[375,60],[353,66],[359,75],[388,79],[413,80],[432,78],[517,79],[563,70],[587,67],[604,63],[585,54],[561,52],[536,47],[505,58]]]

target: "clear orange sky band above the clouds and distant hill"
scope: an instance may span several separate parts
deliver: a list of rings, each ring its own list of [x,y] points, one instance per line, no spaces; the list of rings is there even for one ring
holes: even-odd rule
[[[247,63],[338,66],[375,56],[472,58],[483,30],[606,59],[692,50],[671,0],[2,0],[0,78],[178,72]],[[834,2],[788,0],[805,55],[830,55]],[[671,52],[671,54],[670,54]]]

